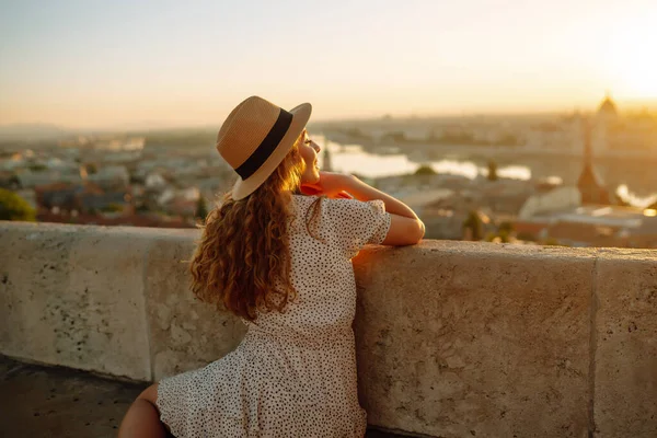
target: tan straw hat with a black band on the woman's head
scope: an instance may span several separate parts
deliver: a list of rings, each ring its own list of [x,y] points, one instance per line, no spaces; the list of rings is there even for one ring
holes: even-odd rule
[[[240,176],[233,199],[251,195],[269,177],[303,131],[311,112],[309,103],[287,112],[251,96],[228,115],[217,135],[217,150]]]

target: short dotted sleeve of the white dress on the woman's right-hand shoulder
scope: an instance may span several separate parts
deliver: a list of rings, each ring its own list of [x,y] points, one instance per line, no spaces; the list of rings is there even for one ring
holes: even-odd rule
[[[388,235],[391,218],[382,200],[330,199],[330,209],[337,241],[349,258]]]

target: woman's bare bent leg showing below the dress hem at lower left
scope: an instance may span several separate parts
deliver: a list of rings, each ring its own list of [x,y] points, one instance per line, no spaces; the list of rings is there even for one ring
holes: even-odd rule
[[[155,406],[158,399],[158,383],[148,387],[126,413],[118,429],[118,438],[132,437],[170,437],[166,427],[160,422],[160,413]]]

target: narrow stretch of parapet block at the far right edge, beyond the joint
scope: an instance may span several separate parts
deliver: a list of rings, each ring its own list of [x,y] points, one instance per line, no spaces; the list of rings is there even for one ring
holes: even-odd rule
[[[657,251],[598,260],[596,436],[657,436]]]

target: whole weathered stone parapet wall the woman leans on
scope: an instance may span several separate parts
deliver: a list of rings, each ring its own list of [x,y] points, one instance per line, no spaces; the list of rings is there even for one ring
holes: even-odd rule
[[[195,230],[0,221],[0,353],[158,380],[244,334],[197,302]],[[427,241],[355,260],[370,425],[657,436],[657,252]]]

